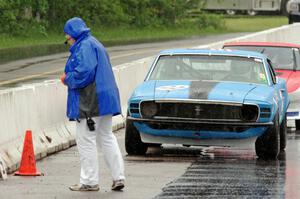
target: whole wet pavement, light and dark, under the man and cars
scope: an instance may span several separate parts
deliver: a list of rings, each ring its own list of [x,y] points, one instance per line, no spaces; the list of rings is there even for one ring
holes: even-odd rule
[[[0,198],[300,198],[300,133],[289,133],[278,160],[258,160],[254,149],[150,148],[145,156],[127,156],[124,129],[116,132],[125,161],[126,187],[110,190],[111,177],[99,154],[100,191],[71,192],[78,182],[76,147],[54,154],[37,167],[41,177],[9,176],[0,181]]]

